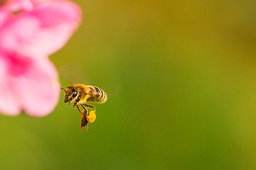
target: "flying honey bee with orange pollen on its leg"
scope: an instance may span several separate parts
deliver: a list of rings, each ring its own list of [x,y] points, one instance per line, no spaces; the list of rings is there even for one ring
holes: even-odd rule
[[[67,88],[60,88],[65,91],[64,103],[74,103],[73,108],[78,109],[81,113],[81,124],[80,129],[83,132],[82,128],[88,130],[88,122],[93,123],[96,119],[95,106],[86,104],[87,101],[93,101],[95,103],[105,103],[108,100],[106,93],[96,87],[91,85],[84,84],[73,84],[67,86]],[[83,110],[80,109],[81,106]],[[88,113],[88,109],[92,109]]]

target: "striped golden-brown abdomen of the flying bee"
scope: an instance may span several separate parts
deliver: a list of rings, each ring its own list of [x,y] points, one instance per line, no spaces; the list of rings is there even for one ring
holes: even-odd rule
[[[108,100],[108,96],[103,91],[103,89],[100,89],[96,86],[87,86],[90,89],[89,95],[90,97],[87,99],[87,101],[94,101],[97,103],[105,103],[106,100]]]

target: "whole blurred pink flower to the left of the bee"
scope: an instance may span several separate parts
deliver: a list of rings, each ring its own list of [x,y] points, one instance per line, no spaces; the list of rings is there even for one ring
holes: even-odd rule
[[[81,21],[68,1],[13,0],[0,7],[0,113],[45,116],[59,100],[58,72],[48,59]]]

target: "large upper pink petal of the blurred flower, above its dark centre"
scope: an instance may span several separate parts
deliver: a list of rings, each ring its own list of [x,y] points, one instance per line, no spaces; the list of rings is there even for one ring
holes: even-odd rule
[[[81,11],[68,1],[48,1],[9,17],[0,27],[0,47],[38,57],[53,54],[66,44],[80,24]]]

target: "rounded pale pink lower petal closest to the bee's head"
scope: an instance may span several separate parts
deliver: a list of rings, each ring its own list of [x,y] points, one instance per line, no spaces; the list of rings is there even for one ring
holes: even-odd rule
[[[58,72],[50,60],[36,62],[27,76],[22,78],[20,93],[22,108],[31,116],[45,116],[59,101]]]

